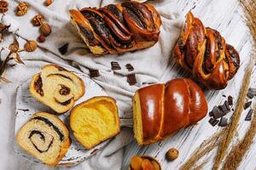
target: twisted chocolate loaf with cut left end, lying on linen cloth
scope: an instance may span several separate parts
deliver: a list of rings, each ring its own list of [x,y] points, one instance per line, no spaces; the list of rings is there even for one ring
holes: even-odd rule
[[[69,13],[80,37],[96,55],[148,48],[159,38],[160,15],[150,4],[125,2]]]

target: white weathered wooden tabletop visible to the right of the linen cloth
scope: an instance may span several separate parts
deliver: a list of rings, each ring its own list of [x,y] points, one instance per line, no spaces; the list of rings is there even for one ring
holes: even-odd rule
[[[241,80],[244,74],[244,68],[247,67],[249,53],[251,48],[250,33],[244,22],[242,8],[239,1],[236,0],[174,0],[177,2],[178,8],[185,15],[189,10],[192,10],[196,17],[199,17],[205,26],[212,27],[225,37],[226,42],[229,42],[237,48],[241,56],[241,68],[236,77],[230,81],[227,88],[221,91],[205,91],[209,105],[209,111],[213,105],[222,104],[226,98],[222,95],[232,95],[235,100],[241,88]],[[254,70],[255,71],[255,70]],[[178,75],[182,77],[183,75]],[[171,76],[174,77],[174,76]],[[255,87],[255,74],[253,74],[251,87]],[[236,102],[235,102],[236,105]],[[247,110],[248,111],[248,110]],[[247,114],[244,111],[241,116],[240,126],[237,132],[237,139],[241,139],[246,132],[249,122],[244,121]],[[231,115],[232,113],[229,113]],[[188,127],[179,131],[176,135],[157,144],[140,147],[134,141],[125,148],[123,169],[127,169],[131,156],[148,155],[155,157],[162,166],[163,170],[178,169],[183,163],[189,159],[193,151],[201,144],[204,139],[207,139],[212,133],[218,131],[221,127],[212,127],[209,122],[209,116],[206,116],[195,127]],[[232,144],[235,144],[234,141]],[[254,139],[256,141],[256,139]],[[179,157],[175,161],[166,161],[166,151],[172,147],[179,150]],[[210,157],[207,165],[203,169],[211,169],[212,161],[216,154],[216,150],[210,152],[207,156]],[[256,169],[256,144],[253,143],[251,149],[247,151],[247,155],[241,162],[239,169],[253,170]],[[202,159],[203,161],[206,158]]]

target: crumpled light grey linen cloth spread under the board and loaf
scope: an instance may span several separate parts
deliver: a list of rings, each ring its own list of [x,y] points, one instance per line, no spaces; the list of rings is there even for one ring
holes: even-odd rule
[[[9,11],[3,18],[8,18],[7,22],[18,26],[16,34],[19,36],[20,47],[25,41],[36,40],[39,35],[38,27],[32,26],[32,17],[36,14],[43,14],[52,28],[52,33],[46,38],[44,43],[39,43],[39,47],[33,53],[21,52],[20,56],[25,65],[16,65],[9,68],[7,78],[13,82],[11,84],[0,85],[0,169],[49,169],[42,164],[26,161],[20,156],[16,156],[13,150],[15,143],[15,89],[26,79],[40,71],[46,64],[54,63],[77,71],[89,74],[89,69],[97,69],[101,76],[93,78],[109,96],[117,100],[119,106],[119,117],[121,119],[122,130],[105,148],[84,161],[76,167],[67,169],[120,169],[123,161],[123,147],[133,140],[131,120],[131,97],[137,88],[141,88],[152,82],[166,82],[162,78],[172,59],[172,48],[177,41],[177,37],[183,25],[183,17],[179,15],[176,4],[172,1],[161,1],[155,3],[161,15],[162,26],[160,28],[160,39],[154,47],[137,50],[125,54],[108,54],[96,57],[90,54],[84,42],[76,33],[74,27],[69,22],[68,9],[84,7],[100,7],[109,3],[121,3],[120,1],[105,0],[54,0],[49,7],[44,6],[42,0],[25,1],[30,4],[30,9],[22,17],[15,16],[15,7],[20,1],[10,1]],[[102,4],[101,4],[102,3]],[[10,20],[11,19],[11,20]],[[13,37],[9,35],[5,41],[0,43],[1,48],[8,48]],[[58,48],[68,43],[67,54],[60,54]],[[8,53],[8,50],[3,51]],[[3,56],[2,56],[3,58]],[[111,70],[111,61],[119,62],[122,70]],[[131,72],[125,69],[125,65],[130,63],[135,70],[137,84],[130,86],[126,82],[126,75]],[[58,169],[66,169],[58,167]]]

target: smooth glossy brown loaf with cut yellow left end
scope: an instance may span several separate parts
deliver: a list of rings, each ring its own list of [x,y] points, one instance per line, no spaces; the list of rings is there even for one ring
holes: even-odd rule
[[[137,90],[133,96],[133,130],[140,145],[166,139],[207,115],[207,100],[190,79],[177,78]]]

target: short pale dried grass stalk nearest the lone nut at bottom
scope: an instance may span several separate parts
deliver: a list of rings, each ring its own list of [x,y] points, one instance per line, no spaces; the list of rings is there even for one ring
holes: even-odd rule
[[[218,139],[223,135],[224,130],[219,131],[212,135],[210,139],[205,140],[193,153],[193,155],[186,161],[181,170],[189,170],[191,167],[195,166],[195,163],[202,157],[205,156],[209,151],[215,148],[218,145]]]

